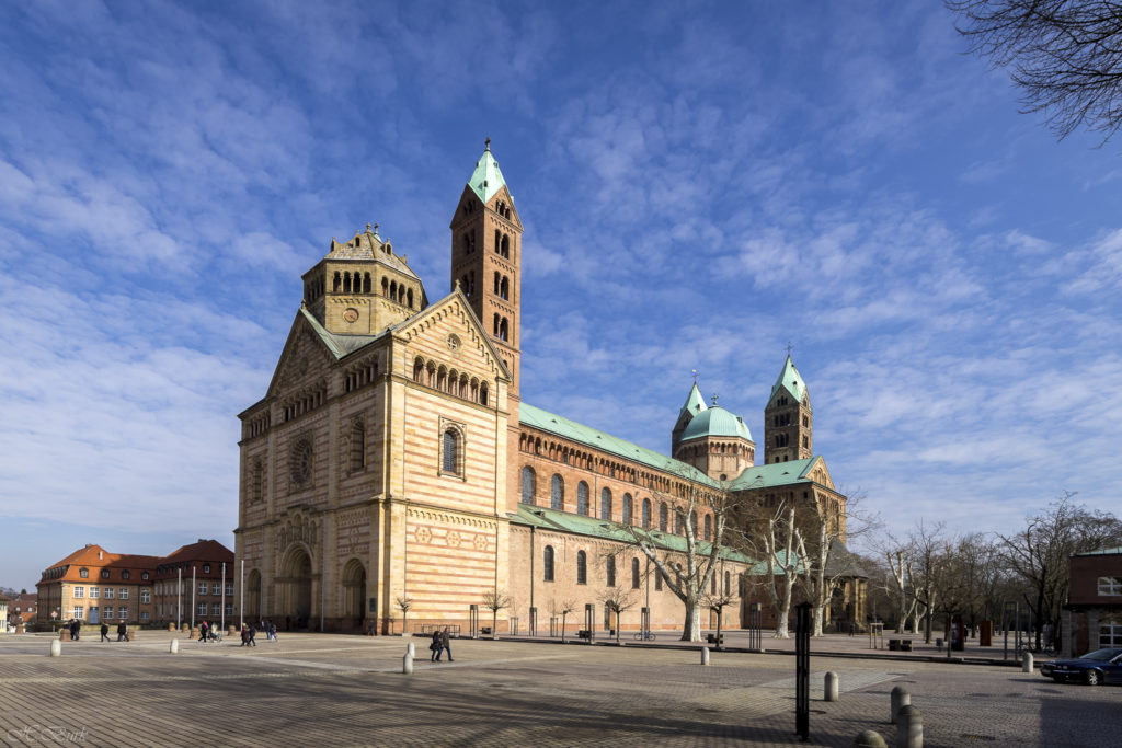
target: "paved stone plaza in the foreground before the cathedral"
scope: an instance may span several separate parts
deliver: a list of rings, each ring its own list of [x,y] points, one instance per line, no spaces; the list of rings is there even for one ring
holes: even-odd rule
[[[922,657],[813,655],[801,744],[784,655],[715,652],[702,667],[697,650],[670,646],[458,639],[453,663],[430,664],[416,637],[416,671],[403,675],[401,637],[282,634],[256,648],[182,637],[172,655],[172,636],[86,634],[56,658],[50,637],[0,636],[0,745],[848,747],[865,729],[892,745],[894,685],[911,691],[929,748],[1116,746],[1122,735],[1118,686]],[[828,644],[812,640],[812,653]],[[839,702],[821,700],[826,671],[839,674]]]

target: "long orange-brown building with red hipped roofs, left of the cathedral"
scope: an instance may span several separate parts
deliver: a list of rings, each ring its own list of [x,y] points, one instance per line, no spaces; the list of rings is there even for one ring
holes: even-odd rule
[[[86,545],[43,572],[36,584],[36,622],[45,626],[52,620],[72,618],[86,624],[148,626],[175,622],[172,601],[180,604],[204,602],[210,616],[212,603],[230,599],[230,595],[222,595],[224,588],[218,572],[222,563],[232,574],[233,553],[217,541],[200,539],[169,556],[109,553],[100,545]],[[172,592],[173,580],[184,574],[184,582],[191,584],[193,573],[200,589],[203,582],[206,583],[205,594],[195,590],[192,597],[192,588],[185,588],[182,595]],[[232,584],[232,578],[229,579]],[[232,589],[229,592],[232,593]],[[184,612],[183,620],[190,622],[191,609]],[[220,608],[219,615],[221,612]]]

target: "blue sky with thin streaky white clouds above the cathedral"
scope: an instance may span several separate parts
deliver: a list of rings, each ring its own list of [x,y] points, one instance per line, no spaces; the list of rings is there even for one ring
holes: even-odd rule
[[[888,527],[1120,510],[1122,144],[1056,142],[929,1],[0,8],[0,585],[232,544],[236,414],[377,221],[438,298],[485,137],[523,397],[669,450],[794,347]]]

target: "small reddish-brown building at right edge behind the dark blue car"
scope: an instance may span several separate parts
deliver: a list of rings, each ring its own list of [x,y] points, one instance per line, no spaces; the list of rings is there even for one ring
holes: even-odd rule
[[[1063,649],[1079,656],[1122,647],[1122,547],[1079,553],[1068,562]]]

